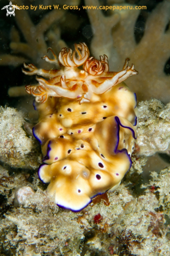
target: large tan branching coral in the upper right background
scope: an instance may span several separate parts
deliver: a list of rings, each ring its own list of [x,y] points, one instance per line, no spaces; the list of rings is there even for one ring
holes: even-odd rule
[[[85,0],[85,3],[86,5],[93,3],[97,7],[100,5],[96,0]],[[109,62],[112,63],[110,59],[117,59],[116,66],[114,62],[112,63],[114,67],[111,66],[111,68],[119,67],[124,57],[130,58],[137,66],[139,75],[134,79],[129,79],[127,85],[137,93],[138,100],[154,97],[167,103],[170,88],[168,86],[169,76],[164,73],[164,67],[170,56],[169,26],[167,27],[170,2],[165,0],[152,11],[146,20],[144,34],[139,42],[135,40],[134,30],[137,27],[140,10],[135,9],[135,5],[129,3],[114,5],[129,6],[129,8],[114,12],[108,10],[107,12],[111,12],[109,17],[105,17],[99,8],[88,10],[93,28],[90,48],[94,56],[100,55],[102,53],[100,50],[109,44],[109,47],[106,47]],[[110,23],[111,20],[113,23]],[[99,47],[96,42],[99,42]]]

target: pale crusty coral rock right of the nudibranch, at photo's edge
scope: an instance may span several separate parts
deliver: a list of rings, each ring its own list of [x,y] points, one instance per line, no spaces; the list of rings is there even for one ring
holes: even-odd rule
[[[139,155],[152,155],[156,152],[169,154],[170,115],[168,103],[163,105],[157,99],[139,103],[139,127],[137,144]]]

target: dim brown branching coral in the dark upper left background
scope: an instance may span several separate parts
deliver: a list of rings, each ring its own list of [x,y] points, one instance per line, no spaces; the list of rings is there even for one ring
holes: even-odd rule
[[[37,5],[53,5],[60,4],[60,1],[37,1]],[[80,4],[79,0],[66,1],[66,4],[78,5]],[[23,3],[21,0],[13,1],[13,4],[22,6]],[[49,13],[45,13],[39,21],[38,24],[33,23],[33,17],[30,17],[32,10],[22,9],[21,12],[17,12],[15,16],[16,25],[10,30],[10,54],[1,54],[0,65],[13,65],[18,66],[24,61],[32,61],[38,66],[43,66],[43,68],[48,68],[48,64],[41,60],[41,56],[46,52],[48,46],[53,47],[53,49],[58,53],[62,47],[66,47],[66,43],[61,39],[61,32],[59,25],[54,26],[51,29],[52,25],[58,24],[58,21],[66,15],[66,10],[56,10],[53,9]],[[40,9],[36,9],[36,14],[41,14]],[[32,15],[33,16],[33,15]],[[25,17],[23,19],[23,17]],[[20,32],[22,33],[25,42],[20,37]],[[20,86],[18,86],[20,87]],[[9,95],[13,96],[13,91],[9,89]],[[15,94],[14,94],[15,95]]]

